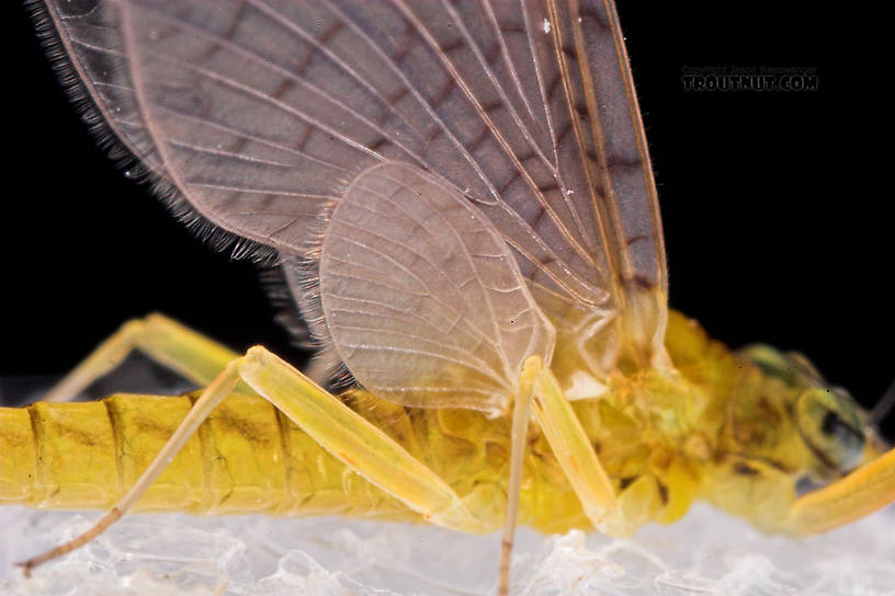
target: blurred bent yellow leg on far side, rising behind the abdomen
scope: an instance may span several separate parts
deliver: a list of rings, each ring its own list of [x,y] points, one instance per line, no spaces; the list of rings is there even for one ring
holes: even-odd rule
[[[44,396],[44,401],[71,401],[91,382],[118,366],[134,349],[144,352],[200,387],[212,382],[227,363],[238,356],[177,321],[162,314],[149,314],[124,323]]]

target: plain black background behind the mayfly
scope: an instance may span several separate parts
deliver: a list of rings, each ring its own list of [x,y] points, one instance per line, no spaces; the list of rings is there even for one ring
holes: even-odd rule
[[[800,349],[873,403],[895,376],[891,163],[874,145],[888,142],[891,74],[873,15],[681,4],[620,7],[671,306],[729,345]],[[66,99],[24,9],[3,2],[2,14],[0,377],[61,374],[154,310],[238,349],[301,357],[254,266],[207,249],[127,180]],[[683,67],[714,65],[816,67],[819,88],[683,90]]]

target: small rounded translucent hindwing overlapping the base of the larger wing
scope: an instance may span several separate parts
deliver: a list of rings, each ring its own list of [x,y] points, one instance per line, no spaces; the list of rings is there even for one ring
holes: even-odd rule
[[[354,377],[405,405],[501,412],[554,331],[509,248],[440,179],[386,162],[352,182],[320,254],[324,314]]]

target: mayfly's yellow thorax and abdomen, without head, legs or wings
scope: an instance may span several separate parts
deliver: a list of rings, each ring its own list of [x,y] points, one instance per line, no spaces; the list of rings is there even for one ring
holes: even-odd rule
[[[796,480],[817,468],[791,415],[798,391],[678,313],[666,345],[678,374],[616,374],[599,394],[573,402],[630,526],[673,522],[703,498],[762,529],[785,530]],[[110,508],[194,399],[113,396],[0,409],[0,504]],[[486,523],[483,529],[500,527],[508,417],[403,408],[362,391],[342,400],[441,477]],[[228,397],[211,414],[135,509],[422,520],[248,394]],[[519,522],[550,532],[592,527],[534,427]]]

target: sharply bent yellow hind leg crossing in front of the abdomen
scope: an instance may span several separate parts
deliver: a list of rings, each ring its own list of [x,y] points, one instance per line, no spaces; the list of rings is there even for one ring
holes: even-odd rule
[[[256,346],[226,365],[139,480],[95,526],[73,540],[21,563],[25,573],[86,545],[118,520],[170,463],[211,411],[234,390],[240,378],[327,451],[420,513],[423,518],[468,532],[487,529],[441,478],[404,447],[298,370],[263,347]]]

